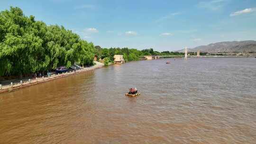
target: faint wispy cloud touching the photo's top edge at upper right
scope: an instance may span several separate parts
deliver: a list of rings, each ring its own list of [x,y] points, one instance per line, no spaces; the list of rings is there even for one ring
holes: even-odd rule
[[[197,4],[199,8],[205,8],[210,10],[219,10],[224,7],[228,0],[211,0],[211,1],[201,1]]]

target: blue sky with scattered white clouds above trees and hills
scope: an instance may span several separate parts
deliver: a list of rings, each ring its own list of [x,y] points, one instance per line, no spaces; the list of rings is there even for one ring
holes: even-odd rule
[[[256,40],[256,0],[0,0],[101,47],[154,48]]]

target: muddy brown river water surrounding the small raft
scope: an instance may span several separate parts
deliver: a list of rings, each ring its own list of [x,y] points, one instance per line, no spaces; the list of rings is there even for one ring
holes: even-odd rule
[[[256,58],[129,62],[0,94],[0,144],[256,144]]]

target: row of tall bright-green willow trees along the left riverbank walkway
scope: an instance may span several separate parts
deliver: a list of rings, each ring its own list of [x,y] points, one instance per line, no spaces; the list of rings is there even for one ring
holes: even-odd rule
[[[0,76],[92,65],[94,45],[64,27],[46,26],[19,8],[0,12]]]

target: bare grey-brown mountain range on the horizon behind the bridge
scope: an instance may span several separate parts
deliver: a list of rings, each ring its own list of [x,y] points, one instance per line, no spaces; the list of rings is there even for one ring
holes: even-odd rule
[[[192,49],[188,49],[188,53],[190,52],[200,52],[203,53],[248,53],[248,52],[256,52],[256,41],[233,41],[233,42],[219,42],[209,45],[201,45]],[[177,52],[184,53],[184,49],[179,50]]]

